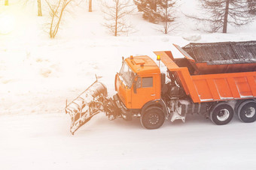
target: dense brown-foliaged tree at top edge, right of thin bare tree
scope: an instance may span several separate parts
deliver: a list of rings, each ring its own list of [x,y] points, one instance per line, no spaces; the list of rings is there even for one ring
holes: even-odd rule
[[[157,13],[157,4],[160,0],[133,0],[138,10],[143,12],[143,18],[149,22],[157,22],[159,13]]]

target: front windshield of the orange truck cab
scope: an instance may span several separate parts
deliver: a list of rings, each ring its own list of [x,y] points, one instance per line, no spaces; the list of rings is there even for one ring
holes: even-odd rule
[[[133,85],[133,78],[135,76],[135,73],[128,67],[126,62],[123,62],[123,65],[120,70],[120,78],[123,80],[124,84],[128,86],[128,88],[131,88]]]

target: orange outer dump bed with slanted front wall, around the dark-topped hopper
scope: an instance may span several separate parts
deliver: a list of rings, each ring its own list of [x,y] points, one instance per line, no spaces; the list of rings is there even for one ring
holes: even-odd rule
[[[190,58],[187,53],[184,53],[185,61],[192,65],[192,69],[186,67],[186,63],[183,63],[184,66],[177,64],[176,59],[168,52],[154,53],[160,55],[163,64],[166,65],[170,73],[176,76],[176,79],[194,103],[256,97],[255,65],[251,67],[251,71],[247,72],[224,73],[224,70],[222,70],[221,73],[196,74],[191,70],[196,70],[197,65],[193,63],[194,58]],[[215,69],[212,69],[212,71],[218,72]]]

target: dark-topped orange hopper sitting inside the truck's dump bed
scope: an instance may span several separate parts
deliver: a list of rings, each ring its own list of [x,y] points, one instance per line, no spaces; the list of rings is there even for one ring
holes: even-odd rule
[[[189,43],[180,48],[191,74],[256,71],[256,41]],[[177,60],[177,64],[179,61]]]

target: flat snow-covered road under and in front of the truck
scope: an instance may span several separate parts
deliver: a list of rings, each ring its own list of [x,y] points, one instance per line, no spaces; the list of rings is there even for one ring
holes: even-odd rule
[[[256,124],[216,126],[199,115],[145,130],[96,115],[72,136],[69,115],[5,115],[1,169],[254,169]]]

